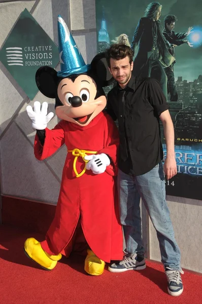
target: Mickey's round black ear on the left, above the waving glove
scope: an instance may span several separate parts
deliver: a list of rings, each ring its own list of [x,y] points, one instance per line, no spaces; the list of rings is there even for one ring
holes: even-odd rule
[[[50,66],[40,67],[35,76],[40,92],[49,98],[55,98],[57,92],[57,72]]]

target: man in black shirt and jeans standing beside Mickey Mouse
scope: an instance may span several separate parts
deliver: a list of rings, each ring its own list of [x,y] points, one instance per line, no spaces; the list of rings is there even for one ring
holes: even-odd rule
[[[107,50],[108,66],[117,81],[117,86],[108,94],[107,110],[119,123],[118,191],[127,252],[122,261],[110,265],[109,271],[119,273],[146,267],[140,216],[142,198],[157,232],[168,291],[176,296],[183,291],[180,276],[183,271],[165,201],[164,177],[164,173],[167,179],[177,173],[174,128],[159,83],[151,78],[134,77],[132,56],[132,50],[124,45],[112,45]],[[164,172],[159,119],[164,127],[167,147]]]

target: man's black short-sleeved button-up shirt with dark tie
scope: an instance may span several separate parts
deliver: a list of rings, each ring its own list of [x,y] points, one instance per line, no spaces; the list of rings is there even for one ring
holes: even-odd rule
[[[119,124],[121,171],[142,175],[163,159],[159,116],[168,108],[159,83],[152,78],[131,76],[124,90],[117,84],[108,93],[107,111]]]

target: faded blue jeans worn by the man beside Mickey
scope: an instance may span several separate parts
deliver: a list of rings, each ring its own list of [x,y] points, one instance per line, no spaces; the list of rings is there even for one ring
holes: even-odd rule
[[[162,163],[138,176],[130,176],[119,170],[118,192],[126,252],[137,252],[141,255],[145,252],[140,212],[140,198],[142,198],[157,233],[161,262],[164,267],[181,270],[180,249],[175,240],[170,212],[165,200],[165,177]]]

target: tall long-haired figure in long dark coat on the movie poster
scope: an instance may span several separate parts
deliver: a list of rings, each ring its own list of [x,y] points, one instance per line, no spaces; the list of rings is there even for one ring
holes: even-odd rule
[[[167,97],[167,77],[163,67],[170,66],[175,58],[169,53],[166,41],[159,29],[159,17],[162,6],[152,2],[145,10],[145,17],[141,18],[134,31],[131,49],[139,49],[134,58],[134,75],[157,79]],[[170,47],[170,44],[169,44]]]

